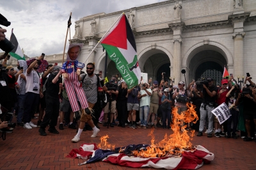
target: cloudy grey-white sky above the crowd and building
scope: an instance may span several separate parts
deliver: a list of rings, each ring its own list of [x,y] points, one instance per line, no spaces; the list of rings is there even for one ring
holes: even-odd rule
[[[63,53],[67,20],[72,12],[71,38],[75,34],[75,21],[95,13],[111,13],[129,8],[158,3],[165,0],[0,0],[0,13],[12,22],[20,48],[29,57]],[[69,35],[68,35],[69,36]],[[68,45],[68,42],[67,42]],[[0,49],[1,51],[1,49]],[[66,47],[67,52],[67,47]]]

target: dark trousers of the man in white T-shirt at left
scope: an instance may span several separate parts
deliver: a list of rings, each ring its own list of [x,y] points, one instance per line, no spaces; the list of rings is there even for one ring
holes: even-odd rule
[[[29,123],[31,121],[31,112],[33,112],[34,108],[38,105],[40,95],[33,92],[28,92],[25,96],[26,99],[24,104],[23,120],[24,123]]]

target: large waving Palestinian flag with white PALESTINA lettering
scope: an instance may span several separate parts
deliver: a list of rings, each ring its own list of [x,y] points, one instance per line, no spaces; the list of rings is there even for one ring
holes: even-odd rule
[[[116,63],[128,88],[140,84],[141,72],[135,38],[124,13],[100,43],[108,52],[109,58]]]

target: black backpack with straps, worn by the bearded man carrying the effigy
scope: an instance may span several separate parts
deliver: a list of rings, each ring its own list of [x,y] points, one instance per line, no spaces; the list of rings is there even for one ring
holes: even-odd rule
[[[86,77],[87,74],[84,75],[83,81]],[[98,75],[97,76],[97,88],[100,87],[100,78]],[[99,109],[100,111],[108,104],[108,100],[107,100],[107,94],[105,91],[97,91],[97,102],[95,104],[95,106],[97,106],[97,109]]]

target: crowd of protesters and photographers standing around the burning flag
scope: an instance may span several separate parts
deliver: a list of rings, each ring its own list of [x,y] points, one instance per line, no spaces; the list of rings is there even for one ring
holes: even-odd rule
[[[220,86],[214,85],[214,79],[206,78],[192,81],[186,87],[183,81],[174,86],[174,81],[164,80],[162,74],[161,82],[141,80],[137,86],[128,88],[124,79],[118,78],[118,74],[104,83],[101,73],[94,73],[95,65],[88,63],[86,73],[81,73],[77,80],[86,95],[88,107],[93,109],[92,114],[85,114],[83,110],[72,111],[60,66],[49,65],[42,75],[36,72],[42,59],[40,56],[30,65],[19,60],[17,69],[13,66],[1,67],[0,72],[0,103],[3,114],[13,112],[17,116],[17,126],[28,130],[40,127],[40,135],[47,135],[45,128],[48,126],[50,133],[59,134],[56,129],[58,118],[59,130],[64,130],[65,127],[77,130],[73,142],[80,141],[80,135],[85,130],[93,130],[91,137],[96,137],[99,123],[103,124],[101,128],[113,128],[117,125],[134,129],[172,129],[173,107],[177,107],[177,112],[183,114],[187,109],[186,103],[191,102],[196,106],[198,121],[183,123],[186,130],[196,130],[198,137],[206,133],[207,137],[214,135],[237,139],[241,136],[244,141],[255,140],[256,88],[251,77],[246,77],[242,87],[233,76],[222,79]],[[3,64],[4,62],[6,59]],[[103,106],[99,92],[106,94],[106,104]],[[181,96],[185,98],[180,99]],[[212,110],[223,103],[229,107],[231,116],[220,124]],[[80,102],[78,104],[81,107]],[[37,125],[32,119],[38,119]],[[2,119],[1,130],[12,132],[15,125],[7,127],[7,124]]]

